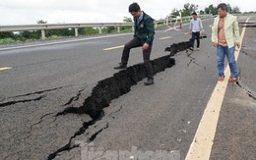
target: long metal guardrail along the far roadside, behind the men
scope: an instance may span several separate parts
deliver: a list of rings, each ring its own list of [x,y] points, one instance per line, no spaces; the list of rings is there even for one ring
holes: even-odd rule
[[[199,15],[200,18],[210,18],[211,15]],[[184,17],[182,21],[190,20],[192,17]],[[171,18],[168,20],[155,21],[155,27],[158,27],[158,24],[164,24],[165,26],[168,23],[177,21],[178,18]],[[97,27],[99,34],[102,33],[102,28],[104,27],[117,27],[117,32],[120,32],[120,27],[132,27],[134,30],[133,23],[97,23],[97,24],[38,24],[38,25],[18,25],[18,26],[0,26],[0,32],[5,31],[25,31],[25,30],[41,30],[42,39],[45,38],[45,30],[49,29],[59,29],[59,28],[75,28],[75,36],[78,36],[78,28],[80,27]]]

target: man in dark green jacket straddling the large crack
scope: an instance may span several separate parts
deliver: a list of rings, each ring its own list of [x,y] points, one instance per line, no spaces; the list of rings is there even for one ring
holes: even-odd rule
[[[130,50],[135,47],[142,46],[144,66],[146,68],[147,80],[146,85],[154,84],[154,72],[150,61],[152,45],[155,35],[154,20],[141,11],[137,3],[132,3],[129,6],[129,12],[134,18],[134,36],[131,41],[124,45],[121,63],[114,69],[126,69]]]

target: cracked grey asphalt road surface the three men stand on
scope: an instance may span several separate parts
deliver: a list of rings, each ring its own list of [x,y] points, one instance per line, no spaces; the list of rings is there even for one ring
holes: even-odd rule
[[[152,60],[164,71],[156,73],[150,86],[144,85],[143,72],[136,74],[143,71],[141,48],[131,51],[128,64],[136,81],[127,77],[128,72],[113,69],[132,33],[15,49],[0,46],[0,159],[86,159],[90,153],[100,159],[105,154],[111,157],[107,151],[120,156],[132,150],[161,151],[172,159],[185,159],[197,142],[195,134],[206,131],[214,133],[209,159],[256,159],[254,17],[239,18],[240,32],[245,28],[237,60],[239,80],[221,88],[224,100],[215,117],[218,124],[199,130],[220,83],[216,48],[211,45],[212,24],[213,19],[203,21],[207,38],[193,52],[180,43],[190,39],[188,26],[157,29]],[[170,52],[164,50],[173,43],[181,49],[166,67],[157,59],[168,56]],[[208,145],[202,146],[200,152],[207,152]],[[138,155],[126,156],[136,159]]]

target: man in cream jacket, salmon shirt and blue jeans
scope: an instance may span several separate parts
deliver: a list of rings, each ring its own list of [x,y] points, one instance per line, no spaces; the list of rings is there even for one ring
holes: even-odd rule
[[[237,18],[227,13],[227,6],[221,3],[218,6],[218,15],[212,27],[212,43],[217,47],[217,61],[219,80],[224,80],[224,57],[229,64],[231,76],[228,81],[236,81],[238,67],[234,59],[235,46],[240,47],[239,27]]]

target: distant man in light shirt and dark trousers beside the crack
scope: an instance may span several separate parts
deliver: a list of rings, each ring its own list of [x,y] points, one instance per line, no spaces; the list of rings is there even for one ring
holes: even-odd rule
[[[189,33],[192,34],[190,50],[194,50],[194,42],[197,39],[197,50],[200,47],[200,31],[203,30],[202,21],[197,17],[197,13],[192,14],[193,19],[190,22]]]

